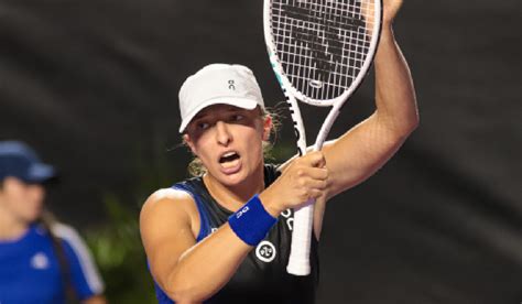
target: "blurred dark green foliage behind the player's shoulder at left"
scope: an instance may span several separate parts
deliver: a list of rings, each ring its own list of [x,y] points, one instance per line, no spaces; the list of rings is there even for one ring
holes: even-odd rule
[[[173,144],[168,142],[174,140],[166,137],[164,126],[151,129],[150,142],[137,142],[133,149],[131,166],[137,173],[137,182],[129,195],[122,198],[110,191],[106,193],[107,219],[85,234],[106,282],[105,295],[111,304],[157,303],[141,243],[139,214],[152,192],[184,178],[184,164],[175,159],[187,156],[187,153],[185,149],[172,149]]]

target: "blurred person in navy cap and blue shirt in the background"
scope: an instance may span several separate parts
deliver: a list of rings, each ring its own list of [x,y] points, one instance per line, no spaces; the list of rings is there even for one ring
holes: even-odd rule
[[[104,304],[102,282],[78,234],[43,210],[54,177],[34,151],[0,142],[0,303]]]

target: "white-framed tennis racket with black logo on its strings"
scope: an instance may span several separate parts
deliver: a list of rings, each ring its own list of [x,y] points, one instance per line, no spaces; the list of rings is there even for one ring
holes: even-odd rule
[[[296,99],[331,107],[317,134],[318,151],[371,66],[381,31],[381,1],[264,0],[264,39],[290,104],[300,155],[306,153],[306,134]],[[313,215],[314,202],[295,210],[289,273],[309,274]]]

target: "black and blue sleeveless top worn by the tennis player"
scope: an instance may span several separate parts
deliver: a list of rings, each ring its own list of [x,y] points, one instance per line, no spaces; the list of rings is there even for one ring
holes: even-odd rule
[[[274,165],[264,167],[264,183],[268,187],[280,172]],[[202,177],[194,177],[173,186],[189,193],[196,202],[200,218],[197,241],[227,222],[232,214],[220,206],[208,193]],[[293,211],[286,210],[279,216],[278,222],[269,235],[243,260],[230,281],[215,295],[205,301],[208,304],[229,303],[315,303],[315,290],[318,283],[317,240],[314,237],[311,249],[312,272],[307,276],[294,276],[286,272],[292,241]],[[219,257],[216,257],[219,259]],[[160,304],[175,303],[155,284]]]

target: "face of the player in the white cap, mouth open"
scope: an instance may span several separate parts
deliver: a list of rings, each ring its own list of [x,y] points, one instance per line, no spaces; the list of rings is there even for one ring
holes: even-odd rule
[[[262,142],[270,128],[271,119],[258,108],[215,105],[191,121],[185,141],[213,177],[233,186],[262,170]]]

